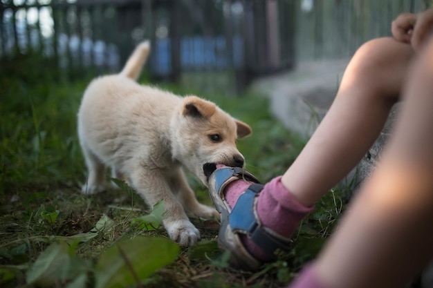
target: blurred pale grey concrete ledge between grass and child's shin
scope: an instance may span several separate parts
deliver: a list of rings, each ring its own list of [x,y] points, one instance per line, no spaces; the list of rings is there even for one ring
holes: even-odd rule
[[[256,81],[273,115],[291,131],[310,137],[331,106],[348,60],[299,64],[295,70]]]

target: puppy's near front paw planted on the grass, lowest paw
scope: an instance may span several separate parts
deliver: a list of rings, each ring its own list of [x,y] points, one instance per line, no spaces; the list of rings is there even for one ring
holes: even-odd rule
[[[170,239],[178,242],[182,246],[192,246],[200,240],[200,232],[190,220],[175,220],[173,222],[164,222]]]

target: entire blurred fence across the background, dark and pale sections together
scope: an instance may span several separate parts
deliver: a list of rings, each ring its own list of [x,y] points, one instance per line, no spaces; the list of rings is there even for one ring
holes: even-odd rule
[[[149,70],[232,71],[238,88],[297,61],[350,57],[389,35],[400,12],[426,0],[1,0],[0,57],[39,52],[62,71],[117,71],[142,39]]]

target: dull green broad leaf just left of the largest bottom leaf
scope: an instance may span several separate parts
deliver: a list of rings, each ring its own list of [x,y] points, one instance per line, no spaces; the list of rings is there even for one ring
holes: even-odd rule
[[[26,280],[28,284],[36,284],[41,287],[49,287],[64,273],[63,269],[68,265],[70,258],[68,245],[52,244],[39,255],[33,265],[28,269]]]

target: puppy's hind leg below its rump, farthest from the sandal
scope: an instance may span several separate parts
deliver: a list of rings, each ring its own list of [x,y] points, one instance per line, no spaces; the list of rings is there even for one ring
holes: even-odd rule
[[[105,165],[84,144],[82,144],[82,151],[89,173],[86,183],[82,186],[82,193],[93,194],[104,191]]]

